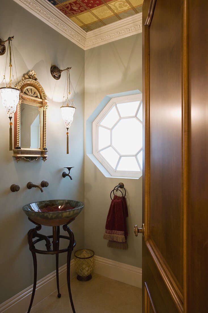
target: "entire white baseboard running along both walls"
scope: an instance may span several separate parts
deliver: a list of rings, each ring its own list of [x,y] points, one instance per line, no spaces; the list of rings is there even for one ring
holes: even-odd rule
[[[109,259],[95,256],[95,269],[94,272],[106,276],[111,279],[121,281],[123,283],[136,286],[141,288],[141,269],[112,261]],[[74,259],[71,261],[70,267],[71,278],[76,276]],[[59,268],[59,285],[62,286],[67,282],[67,264]],[[57,290],[56,286],[56,271],[45,276],[44,278],[37,281],[37,287],[33,306],[45,299],[52,292]],[[30,298],[32,294],[32,285],[27,287],[25,290],[19,292],[17,295],[8,299],[7,301],[0,304],[0,313],[23,313],[27,312]]]

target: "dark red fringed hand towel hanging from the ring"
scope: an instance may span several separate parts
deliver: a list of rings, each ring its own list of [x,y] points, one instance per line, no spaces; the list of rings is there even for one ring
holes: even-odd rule
[[[128,208],[125,197],[114,196],[108,211],[106,230],[103,236],[108,240],[109,248],[128,249],[126,217],[128,217]]]

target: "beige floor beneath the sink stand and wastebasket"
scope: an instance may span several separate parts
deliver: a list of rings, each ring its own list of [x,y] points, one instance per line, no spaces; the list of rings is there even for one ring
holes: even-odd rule
[[[92,280],[80,282],[74,277],[71,290],[76,313],[141,313],[141,289],[92,274]],[[31,313],[72,313],[67,284],[35,305]]]

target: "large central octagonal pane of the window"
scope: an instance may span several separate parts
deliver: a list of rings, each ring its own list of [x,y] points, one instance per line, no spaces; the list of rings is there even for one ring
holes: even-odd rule
[[[112,130],[112,145],[120,154],[134,154],[142,147],[142,124],[136,118],[122,119]]]

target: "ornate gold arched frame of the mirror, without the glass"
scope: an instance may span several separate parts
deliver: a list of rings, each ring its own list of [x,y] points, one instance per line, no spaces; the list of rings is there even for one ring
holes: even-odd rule
[[[47,102],[46,94],[40,83],[37,81],[36,73],[34,70],[30,71],[22,77],[19,83],[19,89],[21,90],[19,96],[19,103],[17,104],[17,110],[14,115],[14,149],[13,156],[15,160],[24,159],[27,161],[34,161],[42,157],[45,162],[47,159],[46,148],[46,110]],[[21,148],[20,138],[20,114],[21,104],[29,104],[38,107],[40,112],[40,148]]]

